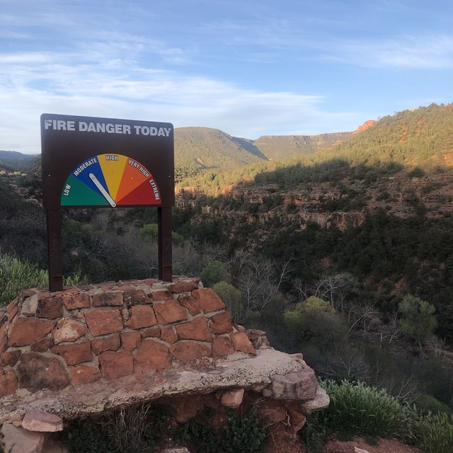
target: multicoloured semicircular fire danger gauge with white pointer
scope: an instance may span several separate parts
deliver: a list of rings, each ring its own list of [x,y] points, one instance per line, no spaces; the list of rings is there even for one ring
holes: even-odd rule
[[[82,161],[63,185],[62,206],[161,205],[151,172],[122,154],[98,154]]]

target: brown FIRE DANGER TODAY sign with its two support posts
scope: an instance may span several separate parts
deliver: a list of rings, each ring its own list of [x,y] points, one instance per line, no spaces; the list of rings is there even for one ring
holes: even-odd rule
[[[61,209],[158,207],[159,279],[171,281],[173,125],[41,115],[50,291],[63,289]]]

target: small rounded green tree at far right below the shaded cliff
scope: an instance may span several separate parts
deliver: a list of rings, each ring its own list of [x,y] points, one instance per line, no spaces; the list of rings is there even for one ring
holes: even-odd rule
[[[401,313],[401,331],[415,343],[420,350],[437,326],[435,307],[418,297],[408,294],[398,304]]]

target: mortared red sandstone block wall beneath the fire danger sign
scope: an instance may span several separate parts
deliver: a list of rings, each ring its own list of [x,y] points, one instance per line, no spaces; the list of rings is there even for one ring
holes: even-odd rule
[[[0,311],[0,397],[231,355],[256,350],[196,278],[28,289]]]

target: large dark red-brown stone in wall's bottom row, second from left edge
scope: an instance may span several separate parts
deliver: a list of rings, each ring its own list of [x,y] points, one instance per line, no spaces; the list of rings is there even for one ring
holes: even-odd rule
[[[17,365],[19,387],[32,393],[42,389],[58,390],[69,384],[64,365],[56,357],[24,352]]]

